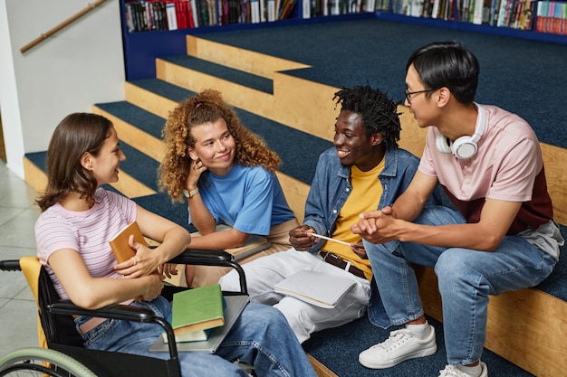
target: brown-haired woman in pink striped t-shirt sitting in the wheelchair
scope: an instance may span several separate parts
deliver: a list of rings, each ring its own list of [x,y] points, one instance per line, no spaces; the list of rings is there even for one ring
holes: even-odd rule
[[[47,152],[48,184],[40,196],[35,224],[38,257],[59,296],[96,309],[111,304],[148,306],[168,317],[171,304],[159,296],[166,262],[186,249],[190,236],[172,221],[144,210],[130,199],[101,187],[118,181],[120,150],[107,118],[74,113],[55,128]],[[161,243],[150,250],[130,237],[136,256],[120,264],[109,240],[129,222]],[[141,296],[140,301],[132,297]],[[160,336],[157,325],[79,316],[77,331],[87,348],[167,358],[150,353]],[[270,306],[250,304],[215,354],[179,353],[183,376],[247,376],[234,360],[254,365],[259,376],[315,376],[283,316]]]

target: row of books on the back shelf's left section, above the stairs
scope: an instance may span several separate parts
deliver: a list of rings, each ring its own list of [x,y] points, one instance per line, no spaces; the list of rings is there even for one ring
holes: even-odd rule
[[[139,0],[125,4],[129,33],[261,23],[289,17],[297,0]]]

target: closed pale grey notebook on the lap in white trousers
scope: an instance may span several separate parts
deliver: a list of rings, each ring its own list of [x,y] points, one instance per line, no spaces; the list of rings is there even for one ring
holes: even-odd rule
[[[302,269],[279,282],[274,290],[314,306],[333,308],[355,284],[349,276]]]

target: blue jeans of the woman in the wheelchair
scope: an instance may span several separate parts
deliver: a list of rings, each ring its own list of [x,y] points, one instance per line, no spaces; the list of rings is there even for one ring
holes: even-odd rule
[[[167,317],[171,310],[170,303],[164,297],[151,302],[133,302],[130,305],[149,306],[163,317]],[[76,325],[81,325],[82,318],[84,317],[77,319]],[[85,346],[90,349],[168,359],[169,353],[148,351],[161,332],[159,325],[107,320],[82,336]],[[179,353],[183,377],[248,377],[244,369],[231,363],[235,359],[254,365],[259,376],[316,377],[292,329],[283,315],[271,306],[246,306],[215,354]]]

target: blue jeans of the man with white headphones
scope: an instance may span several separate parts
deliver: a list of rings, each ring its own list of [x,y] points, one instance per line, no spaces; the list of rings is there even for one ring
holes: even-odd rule
[[[434,206],[426,207],[414,222],[444,225],[465,223],[465,219],[459,212]],[[424,314],[411,264],[435,269],[443,301],[447,362],[455,365],[480,359],[488,295],[536,286],[556,262],[520,236],[506,236],[493,252],[400,241],[364,241],[364,247],[391,325],[403,325]]]

